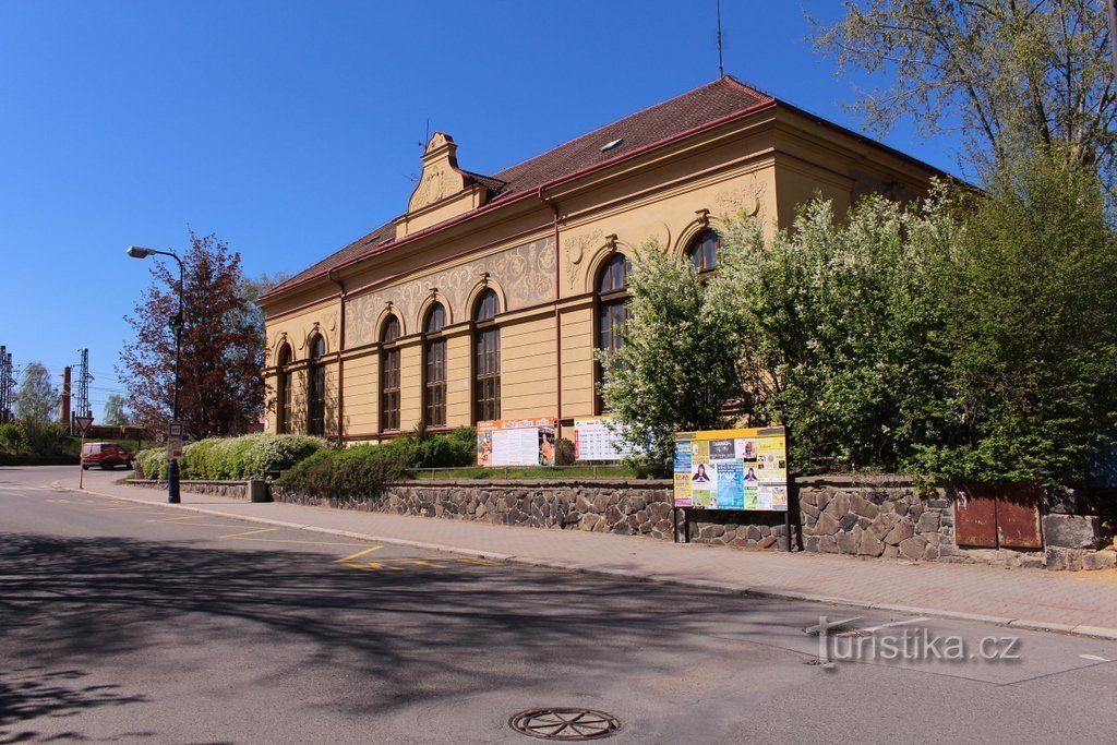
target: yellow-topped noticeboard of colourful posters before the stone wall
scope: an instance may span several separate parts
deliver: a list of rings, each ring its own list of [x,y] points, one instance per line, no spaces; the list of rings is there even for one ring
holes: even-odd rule
[[[675,506],[787,509],[787,437],[783,427],[675,436]]]

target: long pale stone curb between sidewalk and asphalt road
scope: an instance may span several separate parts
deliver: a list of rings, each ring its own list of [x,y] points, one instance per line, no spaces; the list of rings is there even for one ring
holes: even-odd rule
[[[74,489],[66,486],[59,488],[65,489],[66,491],[95,494],[101,497],[108,497],[111,499],[122,499],[124,502],[132,502],[142,505],[162,506],[164,504],[164,503],[151,502],[149,499],[139,499],[136,497],[125,497],[118,494],[106,494],[104,491],[95,491],[93,489]],[[1056,623],[1052,621],[1010,619],[1001,615],[964,613],[962,611],[946,611],[934,608],[919,608],[916,605],[896,605],[892,603],[881,603],[877,601],[855,600],[852,598],[820,595],[798,590],[781,590],[779,588],[763,588],[763,586],[753,588],[748,585],[733,584],[731,582],[716,582],[712,580],[691,580],[687,577],[672,576],[669,574],[647,574],[633,570],[618,570],[603,566],[592,566],[589,564],[567,564],[547,558],[532,558],[529,556],[516,556],[514,554],[502,554],[493,551],[478,551],[475,548],[461,548],[458,546],[448,546],[440,543],[423,543],[420,541],[408,541],[407,538],[391,538],[378,535],[370,535],[367,533],[341,531],[331,527],[306,525],[304,523],[288,523],[286,520],[279,520],[269,517],[256,517],[251,515],[229,514],[221,512],[219,509],[207,509],[204,507],[191,507],[188,505],[175,505],[175,506],[179,509],[184,509],[187,512],[199,513],[201,515],[218,515],[221,517],[230,517],[232,519],[245,520],[246,523],[275,525],[277,527],[286,527],[296,531],[308,531],[311,533],[322,533],[325,535],[353,538],[356,541],[386,543],[395,546],[403,546],[405,548],[419,548],[422,551],[440,551],[450,554],[460,554],[462,556],[475,556],[477,558],[491,558],[495,561],[506,562],[509,564],[523,564],[525,566],[535,566],[540,569],[579,572],[581,574],[593,574],[614,580],[653,582],[656,584],[669,584],[679,588],[690,588],[694,590],[707,590],[714,592],[741,594],[753,598],[764,598],[768,600],[794,600],[809,603],[824,603],[827,605],[844,605],[848,608],[861,608],[865,610],[888,611],[894,613],[905,613],[908,615],[926,615],[928,618],[947,619],[952,621],[974,621],[977,623],[1008,627],[1010,629],[1043,631],[1050,633],[1062,633],[1072,637],[1085,637],[1090,639],[1106,639],[1106,640],[1117,641],[1117,629],[1109,629],[1106,627],[1095,627],[1086,624],[1071,625],[1067,623]]]

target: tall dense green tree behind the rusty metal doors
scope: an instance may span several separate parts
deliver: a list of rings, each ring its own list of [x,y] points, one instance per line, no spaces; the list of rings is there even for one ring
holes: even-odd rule
[[[1035,155],[972,198],[951,325],[941,475],[1075,485],[1117,430],[1117,238],[1089,169]]]

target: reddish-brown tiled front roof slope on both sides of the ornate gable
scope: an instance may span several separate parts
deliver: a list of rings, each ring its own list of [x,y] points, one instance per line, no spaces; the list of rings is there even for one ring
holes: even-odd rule
[[[663,143],[691,130],[698,130],[733,115],[742,115],[758,105],[774,102],[771,96],[726,76],[582,135],[491,176],[475,173],[470,175],[488,187],[488,204],[499,204],[582,171],[623,160],[637,151],[650,149],[657,143]],[[615,146],[601,150],[618,140],[620,142]],[[395,242],[394,237],[395,227],[391,222],[381,226],[271,288],[264,297],[289,289],[362,256],[386,250]]]

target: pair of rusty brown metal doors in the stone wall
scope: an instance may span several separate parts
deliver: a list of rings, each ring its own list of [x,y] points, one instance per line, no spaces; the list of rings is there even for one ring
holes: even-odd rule
[[[1040,505],[1034,486],[966,484],[957,489],[955,541],[974,548],[1042,548]]]

